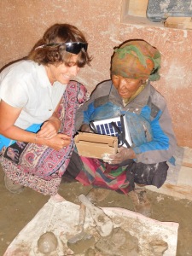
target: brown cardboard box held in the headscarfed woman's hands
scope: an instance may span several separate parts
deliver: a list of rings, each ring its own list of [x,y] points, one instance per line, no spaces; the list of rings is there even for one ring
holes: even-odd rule
[[[102,159],[103,154],[116,154],[118,137],[79,132],[74,137],[74,143],[80,156]]]

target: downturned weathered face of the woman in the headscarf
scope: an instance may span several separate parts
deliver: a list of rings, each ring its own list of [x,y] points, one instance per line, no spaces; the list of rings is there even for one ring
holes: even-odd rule
[[[112,81],[114,87],[119,92],[119,96],[124,99],[131,98],[143,84],[142,79],[126,79],[119,75],[112,75]]]

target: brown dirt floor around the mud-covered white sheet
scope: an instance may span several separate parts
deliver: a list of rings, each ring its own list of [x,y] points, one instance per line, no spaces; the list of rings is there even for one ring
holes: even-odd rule
[[[79,183],[62,183],[59,194],[67,201],[79,204],[78,195],[82,193],[86,195],[90,189]],[[28,188],[24,189],[20,195],[9,193],[4,187],[2,170],[0,170],[0,194],[0,255],[3,255],[10,242],[44,206],[49,196],[40,195]],[[151,191],[148,191],[148,198],[153,207],[151,218],[179,224],[177,256],[192,256],[192,202],[173,199]],[[129,197],[114,191],[110,191],[108,197],[97,206],[123,207],[133,210]]]

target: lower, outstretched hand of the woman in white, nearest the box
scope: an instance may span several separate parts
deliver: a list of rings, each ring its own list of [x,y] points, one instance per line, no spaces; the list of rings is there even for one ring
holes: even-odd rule
[[[58,133],[55,137],[46,140],[46,145],[49,148],[60,150],[61,148],[67,147],[71,142],[71,137],[66,134]]]

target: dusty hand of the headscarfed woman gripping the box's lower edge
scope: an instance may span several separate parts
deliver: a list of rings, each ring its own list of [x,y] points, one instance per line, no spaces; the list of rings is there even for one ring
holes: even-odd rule
[[[103,159],[105,162],[108,162],[111,165],[118,165],[121,162],[128,159],[136,159],[137,156],[131,148],[121,147],[118,148],[117,154],[108,155],[107,159]]]

